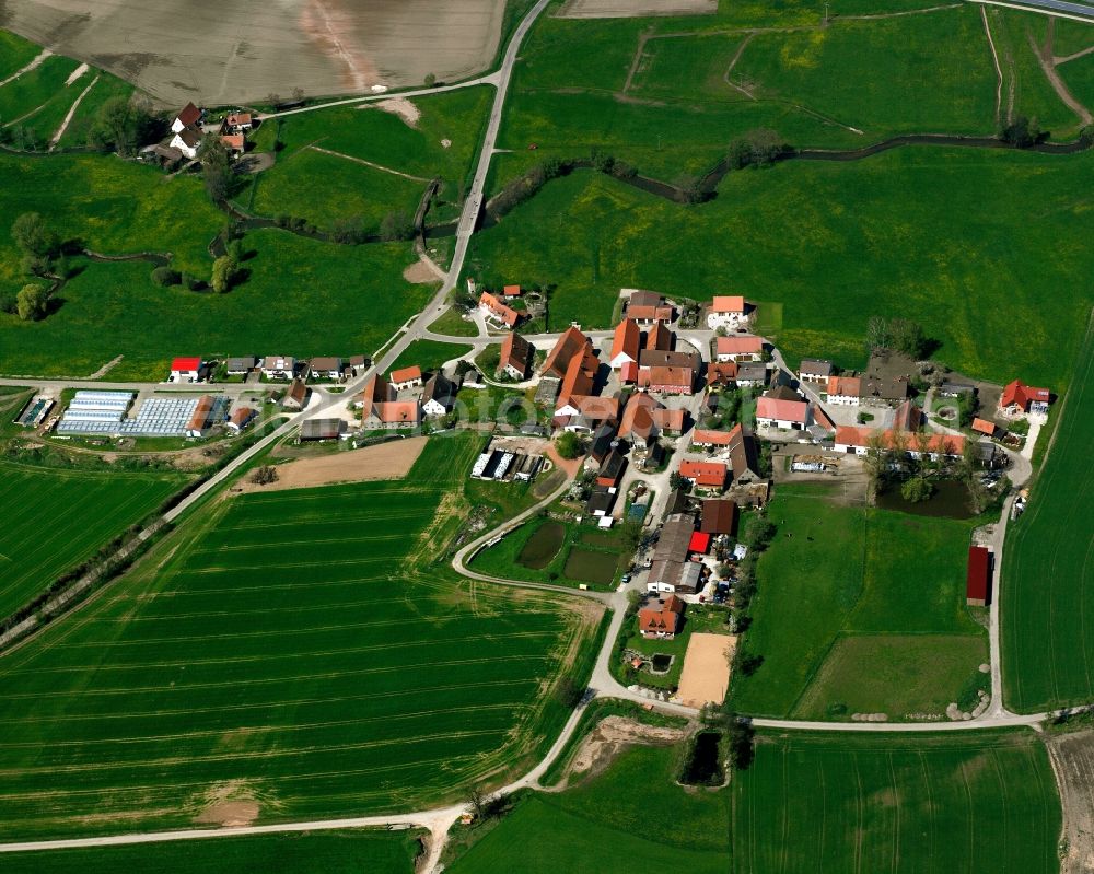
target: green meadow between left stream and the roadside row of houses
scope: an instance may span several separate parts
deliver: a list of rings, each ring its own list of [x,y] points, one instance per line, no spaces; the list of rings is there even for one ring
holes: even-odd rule
[[[143,261],[80,261],[46,319],[0,314],[0,372],[82,376],[123,354],[112,377],[160,380],[182,351],[371,354],[431,291],[401,278],[405,243],[337,246],[271,229],[244,248],[249,276],[228,294],[158,288]]]

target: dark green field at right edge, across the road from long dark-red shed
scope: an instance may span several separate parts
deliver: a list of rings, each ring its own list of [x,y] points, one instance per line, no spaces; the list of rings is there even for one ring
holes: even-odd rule
[[[1019,712],[1094,699],[1094,631],[1086,632],[1094,610],[1092,428],[1094,337],[1087,337],[1028,509],[1011,523],[1003,550],[1004,700]]]

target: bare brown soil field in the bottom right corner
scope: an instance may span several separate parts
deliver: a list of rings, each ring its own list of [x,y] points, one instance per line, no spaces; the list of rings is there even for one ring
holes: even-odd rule
[[[1063,805],[1061,874],[1094,871],[1094,730],[1047,738]]]

